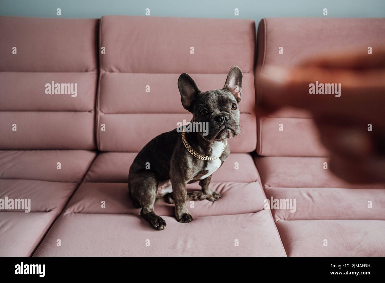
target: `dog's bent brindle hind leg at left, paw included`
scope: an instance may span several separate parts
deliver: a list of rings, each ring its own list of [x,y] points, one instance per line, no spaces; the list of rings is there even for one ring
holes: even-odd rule
[[[141,216],[158,230],[166,228],[166,222],[154,212],[158,181],[154,173],[135,172],[129,175],[132,201],[141,206]]]

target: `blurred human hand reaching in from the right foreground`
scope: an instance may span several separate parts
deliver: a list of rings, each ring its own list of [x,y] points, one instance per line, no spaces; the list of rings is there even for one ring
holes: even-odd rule
[[[316,81],[341,84],[341,96],[310,94]],[[265,66],[257,94],[261,116],[284,106],[311,112],[337,176],[385,182],[385,49],[323,55],[291,69]]]

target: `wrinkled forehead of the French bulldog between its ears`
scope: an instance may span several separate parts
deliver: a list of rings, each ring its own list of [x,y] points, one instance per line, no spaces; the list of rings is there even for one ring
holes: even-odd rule
[[[237,100],[229,90],[215,89],[199,93],[196,96],[194,108],[209,107],[210,109],[216,109],[230,103],[237,103]]]

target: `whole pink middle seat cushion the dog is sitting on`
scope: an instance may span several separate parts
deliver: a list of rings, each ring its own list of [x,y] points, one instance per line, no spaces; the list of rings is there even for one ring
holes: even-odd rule
[[[99,154],[35,256],[285,256],[271,213],[263,209],[266,197],[249,154],[230,154],[213,174],[211,188],[222,198],[187,203],[191,223],[178,223],[174,205],[159,200],[155,212],[167,223],[160,233],[141,218],[129,196],[128,170],[135,156]],[[197,183],[187,188],[201,189]],[[59,235],[69,246],[52,245]],[[147,249],[146,239],[157,248]],[[242,244],[236,247],[236,241]]]

